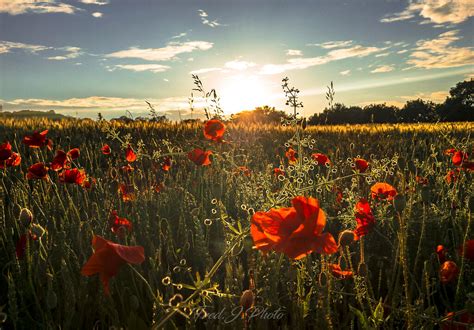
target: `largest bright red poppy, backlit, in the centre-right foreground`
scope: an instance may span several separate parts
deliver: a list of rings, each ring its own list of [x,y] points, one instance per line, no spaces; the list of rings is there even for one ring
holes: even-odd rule
[[[301,259],[311,252],[332,254],[337,244],[330,233],[323,233],[326,215],[316,198],[298,196],[293,207],[256,212],[250,233],[255,248],[282,252],[292,259]]]

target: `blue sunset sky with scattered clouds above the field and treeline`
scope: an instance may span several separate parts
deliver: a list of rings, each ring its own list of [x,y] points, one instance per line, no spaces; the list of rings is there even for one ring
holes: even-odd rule
[[[184,119],[192,74],[226,114],[290,111],[284,77],[305,116],[331,81],[346,105],[443,102],[474,77],[472,16],[472,0],[0,0],[0,104]]]

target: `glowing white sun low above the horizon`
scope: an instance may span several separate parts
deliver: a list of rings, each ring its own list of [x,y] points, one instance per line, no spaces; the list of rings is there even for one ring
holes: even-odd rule
[[[235,75],[218,84],[221,107],[227,115],[269,105],[275,100],[270,85],[256,75]]]

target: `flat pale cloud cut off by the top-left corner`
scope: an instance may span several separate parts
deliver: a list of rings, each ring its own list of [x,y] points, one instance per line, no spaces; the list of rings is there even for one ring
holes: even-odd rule
[[[63,13],[74,14],[80,8],[54,0],[0,0],[0,13],[10,15]]]

